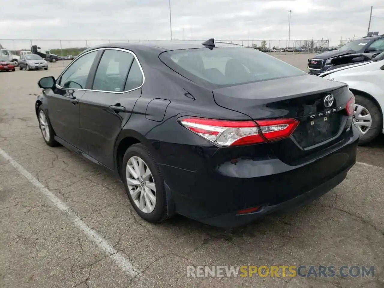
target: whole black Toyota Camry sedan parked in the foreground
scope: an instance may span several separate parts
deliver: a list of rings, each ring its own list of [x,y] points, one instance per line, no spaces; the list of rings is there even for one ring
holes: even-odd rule
[[[244,46],[100,45],[38,85],[46,144],[116,171],[151,223],[237,227],[318,198],[356,161],[348,86]]]

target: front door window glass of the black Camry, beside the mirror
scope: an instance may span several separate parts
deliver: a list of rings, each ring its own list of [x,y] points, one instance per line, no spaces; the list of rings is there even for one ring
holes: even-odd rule
[[[64,88],[84,89],[89,71],[98,51],[92,51],[71,63],[61,75],[58,84]]]

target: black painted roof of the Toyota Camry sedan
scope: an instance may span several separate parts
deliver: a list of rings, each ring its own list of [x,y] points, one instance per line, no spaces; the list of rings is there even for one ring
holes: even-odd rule
[[[180,49],[193,49],[193,48],[205,48],[207,46],[202,45],[204,41],[178,41],[178,40],[158,40],[158,41],[139,41],[128,43],[108,43],[98,46],[93,46],[87,49],[87,51],[97,48],[122,48],[122,49],[140,49],[140,47],[152,47],[161,51],[180,50]],[[232,43],[215,42],[215,47],[247,47],[243,45],[237,45]]]

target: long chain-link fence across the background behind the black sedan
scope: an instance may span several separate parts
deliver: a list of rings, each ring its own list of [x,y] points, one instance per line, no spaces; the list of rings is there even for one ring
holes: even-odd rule
[[[206,40],[206,39],[205,39]],[[205,40],[174,40],[174,41],[195,41],[202,43]],[[0,39],[0,45],[9,50],[13,55],[20,54],[20,50],[31,50],[32,45],[40,48],[42,53],[65,56],[76,56],[86,48],[106,44],[106,43],[139,43],[148,41],[162,40],[38,40],[38,39]],[[326,40],[218,40],[216,42],[226,42],[256,48],[266,53],[319,53],[327,51],[329,39]]]

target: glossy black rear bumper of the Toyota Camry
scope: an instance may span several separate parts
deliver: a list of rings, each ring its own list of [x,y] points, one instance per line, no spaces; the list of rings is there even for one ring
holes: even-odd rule
[[[175,212],[209,225],[233,228],[276,210],[294,208],[325,194],[344,180],[356,162],[357,133],[316,161],[289,166],[279,159],[247,157],[190,171],[161,165]],[[232,157],[232,156],[231,156]],[[214,157],[212,157],[214,158]],[[262,207],[255,213],[239,210]]]

